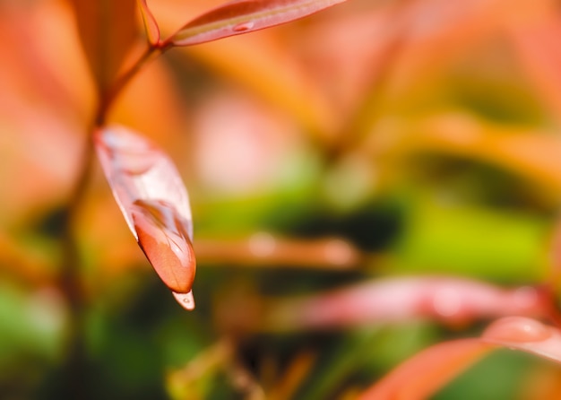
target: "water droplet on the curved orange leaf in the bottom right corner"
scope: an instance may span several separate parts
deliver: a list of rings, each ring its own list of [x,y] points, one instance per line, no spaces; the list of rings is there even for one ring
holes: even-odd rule
[[[526,317],[505,317],[491,324],[483,334],[485,339],[499,343],[539,342],[551,336],[551,329]]]

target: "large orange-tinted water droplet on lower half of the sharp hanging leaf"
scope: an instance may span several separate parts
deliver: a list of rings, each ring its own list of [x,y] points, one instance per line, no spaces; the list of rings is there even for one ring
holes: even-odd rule
[[[163,200],[136,200],[131,210],[138,243],[169,289],[191,290],[196,262],[188,222]]]

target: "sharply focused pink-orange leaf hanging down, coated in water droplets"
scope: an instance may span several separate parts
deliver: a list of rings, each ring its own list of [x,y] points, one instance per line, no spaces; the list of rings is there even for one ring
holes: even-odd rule
[[[179,303],[193,309],[193,224],[176,167],[154,143],[124,126],[99,129],[94,140],[134,238]]]

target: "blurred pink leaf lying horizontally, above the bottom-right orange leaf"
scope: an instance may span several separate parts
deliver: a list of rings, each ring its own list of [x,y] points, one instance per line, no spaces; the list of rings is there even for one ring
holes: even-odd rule
[[[474,318],[541,315],[530,287],[506,290],[467,279],[393,278],[272,303],[265,329],[326,328],[387,323],[411,317],[465,324]]]

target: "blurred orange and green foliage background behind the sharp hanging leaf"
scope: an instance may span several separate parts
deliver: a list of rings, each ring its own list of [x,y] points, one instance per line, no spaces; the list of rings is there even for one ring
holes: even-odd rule
[[[76,309],[63,227],[96,83],[70,3],[0,1],[1,398],[354,398],[489,321],[447,314],[450,296],[441,315],[403,314],[401,283],[554,280],[560,4],[350,0],[172,49],[136,77],[110,120],[159,143],[186,181],[196,309],[153,273],[97,163],[72,222]],[[217,4],[149,3],[168,33]],[[97,26],[108,42],[111,21]],[[346,321],[321,297],[388,282],[385,317]],[[303,299],[336,317],[315,326]],[[499,351],[435,398],[555,398],[560,375]]]

